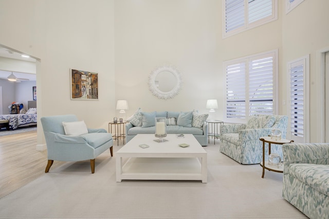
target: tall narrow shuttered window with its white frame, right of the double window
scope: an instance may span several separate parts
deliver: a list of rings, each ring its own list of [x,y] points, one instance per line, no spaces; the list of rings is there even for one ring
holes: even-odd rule
[[[288,63],[290,139],[305,143],[308,125],[308,57]]]

